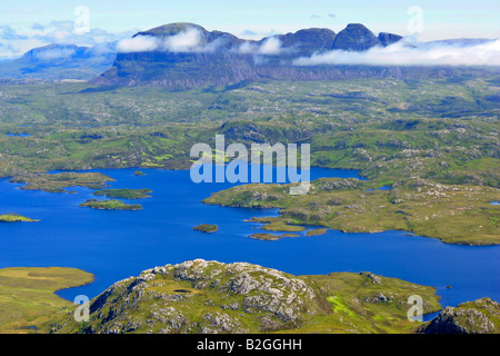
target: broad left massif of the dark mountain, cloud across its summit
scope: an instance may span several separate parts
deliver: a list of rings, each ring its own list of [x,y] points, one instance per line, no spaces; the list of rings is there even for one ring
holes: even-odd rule
[[[243,40],[231,33],[171,23],[133,36],[139,37],[154,39],[156,48],[118,53],[113,66],[93,81],[186,89],[226,86],[254,77],[249,56],[237,51]]]

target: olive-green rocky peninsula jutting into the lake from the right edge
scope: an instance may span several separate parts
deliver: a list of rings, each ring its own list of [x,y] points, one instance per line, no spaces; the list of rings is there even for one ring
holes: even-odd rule
[[[290,196],[289,185],[243,185],[213,194],[206,204],[238,207],[278,207],[278,217],[263,229],[290,231],[297,224],[318,225],[346,233],[408,230],[444,243],[500,244],[500,189],[434,184],[420,178],[393,182],[390,190],[366,191],[376,182],[356,178],[321,178],[302,196]],[[290,225],[292,224],[292,225]]]

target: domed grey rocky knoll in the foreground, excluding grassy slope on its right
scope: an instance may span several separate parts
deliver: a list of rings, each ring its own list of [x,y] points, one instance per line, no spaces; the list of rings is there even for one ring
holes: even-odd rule
[[[302,279],[247,263],[188,260],[116,283],[90,305],[86,333],[249,333],[298,327],[319,307]],[[260,322],[259,322],[260,320]]]

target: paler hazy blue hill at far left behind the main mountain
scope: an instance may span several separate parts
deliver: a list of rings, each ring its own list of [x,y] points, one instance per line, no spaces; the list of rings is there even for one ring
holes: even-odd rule
[[[90,80],[107,70],[114,58],[114,52],[108,48],[48,44],[34,48],[21,58],[0,62],[0,78]]]

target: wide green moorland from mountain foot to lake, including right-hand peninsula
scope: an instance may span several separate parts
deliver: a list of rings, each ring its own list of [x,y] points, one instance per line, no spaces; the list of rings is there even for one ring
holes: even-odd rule
[[[0,135],[0,177],[27,184],[23,189],[102,189],[111,180],[102,175],[38,172],[187,169],[192,145],[214,147],[216,134],[223,134],[227,145],[307,142],[313,166],[358,169],[370,181],[294,198],[277,187],[249,186],[277,189],[279,197],[230,201],[218,195],[213,202],[282,208],[283,216],[268,230],[293,233],[302,229],[298,225],[317,224],[497,244],[498,208],[483,201],[499,199],[499,88],[500,75],[488,69],[456,70],[452,77],[269,80],[184,91],[2,81],[0,132],[30,136]],[[424,181],[428,192],[394,188],[406,179]],[[381,186],[393,188],[364,191]]]

